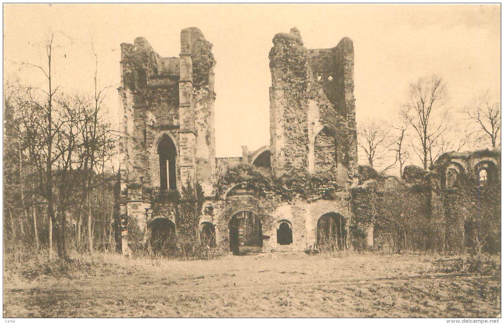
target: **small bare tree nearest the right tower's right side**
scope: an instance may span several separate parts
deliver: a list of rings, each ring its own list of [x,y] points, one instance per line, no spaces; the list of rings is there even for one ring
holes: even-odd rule
[[[390,127],[385,121],[372,119],[360,123],[357,130],[358,144],[366,157],[367,163],[371,167],[383,167],[389,158],[389,134]],[[385,166],[381,172],[385,172],[393,166]]]

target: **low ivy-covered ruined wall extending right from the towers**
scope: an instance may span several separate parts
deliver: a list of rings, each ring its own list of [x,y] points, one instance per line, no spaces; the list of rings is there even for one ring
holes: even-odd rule
[[[375,249],[500,251],[500,152],[446,153],[430,171],[407,166],[403,179],[361,167],[351,192],[358,248],[372,226]]]

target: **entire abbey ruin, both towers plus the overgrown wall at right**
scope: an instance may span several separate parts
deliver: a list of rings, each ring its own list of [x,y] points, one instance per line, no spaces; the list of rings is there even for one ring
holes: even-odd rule
[[[402,179],[359,167],[352,40],[307,49],[293,28],[273,44],[270,144],[236,158],[215,156],[216,60],[198,28],[178,57],[121,44],[123,254],[187,232],[236,254],[500,246],[500,152],[446,153]]]

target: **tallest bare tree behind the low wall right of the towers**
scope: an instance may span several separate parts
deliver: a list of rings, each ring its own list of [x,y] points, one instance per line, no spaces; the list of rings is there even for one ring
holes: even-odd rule
[[[448,129],[446,86],[437,76],[420,78],[410,85],[409,97],[403,116],[415,133],[416,141],[411,142],[411,147],[427,169],[440,153],[446,151],[447,140],[443,138]]]

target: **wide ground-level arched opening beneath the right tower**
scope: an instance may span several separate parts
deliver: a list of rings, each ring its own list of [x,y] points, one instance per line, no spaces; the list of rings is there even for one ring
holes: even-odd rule
[[[317,222],[317,244],[321,249],[342,250],[346,244],[345,218],[338,213],[327,213]]]

